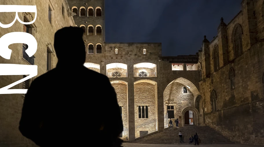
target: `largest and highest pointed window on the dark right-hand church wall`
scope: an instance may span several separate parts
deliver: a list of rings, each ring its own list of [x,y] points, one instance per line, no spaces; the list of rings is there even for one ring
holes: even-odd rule
[[[234,56],[238,57],[243,53],[242,49],[242,28],[239,24],[236,24],[233,29],[233,45],[234,45]]]

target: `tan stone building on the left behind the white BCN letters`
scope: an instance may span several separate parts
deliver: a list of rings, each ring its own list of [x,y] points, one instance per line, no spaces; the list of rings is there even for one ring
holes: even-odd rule
[[[12,27],[0,27],[0,37],[10,32],[27,32],[34,36],[38,44],[37,51],[32,57],[25,53],[26,44],[11,44],[9,45],[12,50],[11,58],[8,60],[0,56],[0,63],[37,65],[37,76],[54,68],[58,61],[53,48],[54,34],[62,27],[75,26],[73,17],[70,16],[71,9],[69,9],[67,0],[1,0],[0,5],[36,5],[37,18],[33,24],[24,25],[16,21]],[[31,22],[35,17],[35,13],[19,12],[18,16],[24,22]],[[9,24],[14,18],[15,12],[0,13],[2,24]],[[28,75],[0,76],[0,88],[21,80],[25,76]],[[34,78],[17,84],[10,89],[28,89]],[[47,82],[52,83],[52,79]],[[52,88],[47,87],[47,92],[52,91]],[[23,94],[0,95],[0,146],[34,146],[34,143],[23,137],[18,129],[23,101]]]

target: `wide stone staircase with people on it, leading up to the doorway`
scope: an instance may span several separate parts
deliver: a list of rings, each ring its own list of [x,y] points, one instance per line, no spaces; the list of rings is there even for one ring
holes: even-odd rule
[[[209,126],[186,126],[167,128],[165,131],[136,140],[134,143],[140,144],[180,144],[179,131],[182,133],[184,143],[189,144],[190,135],[195,133],[199,136],[199,144],[234,144],[223,135],[219,134]],[[194,142],[192,142],[194,144]]]

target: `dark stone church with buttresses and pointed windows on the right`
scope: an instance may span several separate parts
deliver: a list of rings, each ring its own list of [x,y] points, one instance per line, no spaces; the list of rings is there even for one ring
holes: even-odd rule
[[[199,50],[200,125],[230,140],[264,145],[264,4],[243,0],[228,23],[220,20],[212,41]]]

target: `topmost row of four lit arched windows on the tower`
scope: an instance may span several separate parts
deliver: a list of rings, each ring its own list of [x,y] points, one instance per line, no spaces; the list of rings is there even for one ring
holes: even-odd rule
[[[88,7],[87,8],[87,16],[93,16],[93,7]],[[76,13],[78,15],[78,8],[77,7],[72,7],[71,8],[72,13]],[[86,16],[86,8],[85,7],[80,7],[80,14],[79,16]],[[96,7],[95,9],[95,16],[102,16],[102,8],[101,7]]]

